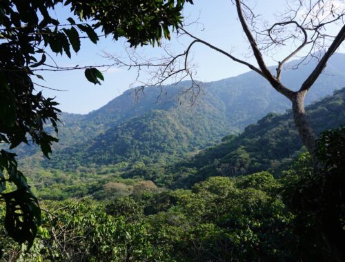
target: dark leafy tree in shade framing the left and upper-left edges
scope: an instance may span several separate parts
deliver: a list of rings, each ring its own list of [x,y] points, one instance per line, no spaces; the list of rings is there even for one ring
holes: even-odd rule
[[[132,47],[159,45],[163,37],[170,39],[171,27],[181,25],[181,10],[186,2],[193,3],[0,0],[0,143],[12,149],[31,141],[49,158],[52,143],[58,141],[46,128],[51,125],[58,132],[58,103],[36,92],[37,86],[46,88],[34,83],[34,77],[43,79],[37,72],[84,69],[88,81],[99,84],[103,80],[96,67],[57,66],[48,47],[55,54],[71,58],[72,50],[80,50],[81,38],[97,43],[100,37],[126,37]],[[51,16],[60,3],[73,14],[67,23]],[[41,210],[26,177],[17,169],[15,154],[4,149],[0,151],[0,179],[0,198],[6,202],[6,231],[19,243],[28,241],[30,247]]]

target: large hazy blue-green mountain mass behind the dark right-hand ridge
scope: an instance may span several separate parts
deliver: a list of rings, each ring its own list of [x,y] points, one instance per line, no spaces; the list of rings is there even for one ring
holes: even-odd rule
[[[345,85],[344,59],[345,54],[332,57],[308,94],[307,104]],[[289,63],[283,74],[283,82],[295,89],[315,66],[315,61],[309,61],[291,70],[297,63]],[[241,132],[268,112],[290,108],[290,101],[255,72],[202,85],[203,92],[193,106],[186,101],[178,103],[179,94],[190,87],[190,81],[184,81],[162,89],[146,88],[138,101],[135,90],[128,90],[89,114],[62,114],[60,141],[52,161],[43,164],[73,170],[80,165],[125,160],[150,163],[181,159],[225,134]],[[26,148],[19,152],[28,155]]]

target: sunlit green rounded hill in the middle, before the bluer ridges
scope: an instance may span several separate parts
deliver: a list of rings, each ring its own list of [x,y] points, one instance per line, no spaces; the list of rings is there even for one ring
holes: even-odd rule
[[[205,147],[231,131],[224,115],[209,103],[150,110],[109,128],[87,143],[57,150],[48,167],[73,170],[80,165],[112,165],[121,161],[164,162]]]

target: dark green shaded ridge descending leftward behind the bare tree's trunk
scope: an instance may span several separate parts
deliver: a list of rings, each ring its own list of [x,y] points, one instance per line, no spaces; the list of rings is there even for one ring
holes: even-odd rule
[[[306,108],[315,132],[345,125],[345,88]],[[173,188],[188,188],[208,177],[236,177],[266,171],[279,175],[305,151],[292,112],[268,114],[248,125],[242,134],[229,135],[192,159],[173,165],[166,181]],[[186,175],[187,174],[187,175]]]

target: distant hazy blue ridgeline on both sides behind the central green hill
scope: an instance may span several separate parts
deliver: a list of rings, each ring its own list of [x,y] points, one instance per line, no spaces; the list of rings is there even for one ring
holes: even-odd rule
[[[311,103],[332,94],[334,90],[345,86],[345,54],[334,54],[326,70],[317,79],[308,93],[306,103]],[[292,70],[299,61],[288,63],[283,72],[283,82],[290,88],[298,88],[313,68],[315,61],[302,64],[298,70]],[[271,68],[271,70],[275,70]],[[243,129],[264,117],[268,112],[284,112],[290,108],[290,101],[278,94],[265,79],[255,72],[247,72],[238,77],[231,77],[211,83],[204,83],[204,95],[199,99],[207,101],[219,114],[224,114],[228,126]],[[128,90],[116,97],[99,110],[86,115],[63,114],[61,119],[65,125],[60,128],[60,145],[66,148],[70,141],[81,142],[112,128],[121,121],[139,117],[150,110],[170,110],[177,108],[177,95],[190,86],[190,81],[177,85],[159,88],[146,88],[144,94],[139,93],[135,99],[135,91]],[[76,117],[77,116],[77,117]],[[77,131],[77,132],[75,132]],[[71,135],[73,138],[71,139]]]

